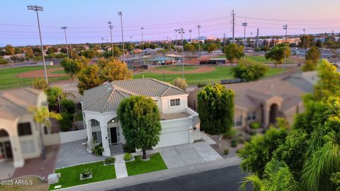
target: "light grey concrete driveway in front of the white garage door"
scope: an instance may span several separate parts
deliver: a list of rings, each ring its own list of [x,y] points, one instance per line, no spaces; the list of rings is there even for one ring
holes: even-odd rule
[[[217,161],[220,154],[205,141],[157,149],[168,168],[179,168],[197,163]]]

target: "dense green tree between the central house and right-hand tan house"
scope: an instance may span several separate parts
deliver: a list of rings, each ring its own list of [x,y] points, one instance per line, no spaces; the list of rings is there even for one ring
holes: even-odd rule
[[[223,134],[233,125],[234,91],[220,84],[208,85],[197,97],[200,128],[208,134],[218,135],[218,146],[221,147]]]

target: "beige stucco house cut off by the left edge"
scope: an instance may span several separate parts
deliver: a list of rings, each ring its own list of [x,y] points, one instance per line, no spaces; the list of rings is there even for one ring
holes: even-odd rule
[[[35,123],[28,108],[42,105],[47,105],[43,91],[32,88],[0,91],[0,158],[13,159],[16,168],[24,165],[24,159],[41,154],[40,136],[49,134],[49,129]],[[48,142],[44,139],[43,144],[49,145]]]

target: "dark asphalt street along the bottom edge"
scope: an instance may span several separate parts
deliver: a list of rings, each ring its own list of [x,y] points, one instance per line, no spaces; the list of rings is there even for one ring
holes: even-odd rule
[[[110,191],[210,191],[210,190],[239,190],[239,182],[244,173],[239,166],[229,166],[202,173],[183,175],[167,180],[158,180],[140,185],[120,187]],[[251,185],[246,190],[252,190]]]

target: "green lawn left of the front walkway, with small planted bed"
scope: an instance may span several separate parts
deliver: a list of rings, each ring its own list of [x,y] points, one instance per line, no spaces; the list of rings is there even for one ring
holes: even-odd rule
[[[86,168],[92,169],[92,178],[79,180],[81,171]],[[59,183],[50,185],[50,190],[54,190],[55,185],[62,185],[62,188],[64,188],[116,178],[115,166],[103,166],[103,161],[60,168],[55,170],[55,173],[61,173],[61,177],[59,179]]]

